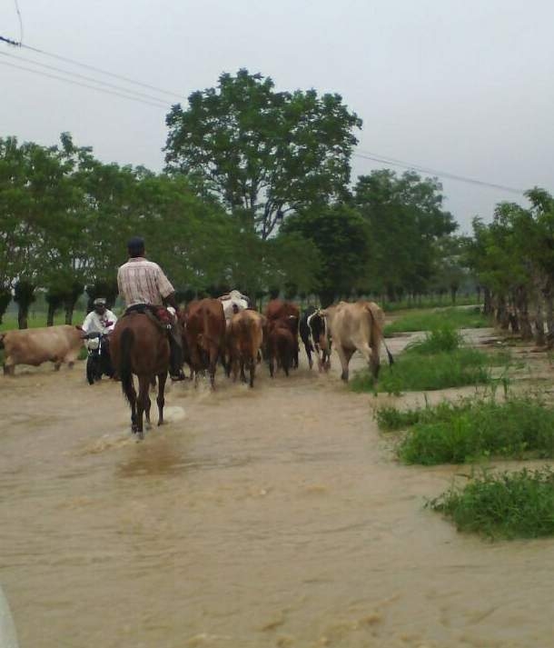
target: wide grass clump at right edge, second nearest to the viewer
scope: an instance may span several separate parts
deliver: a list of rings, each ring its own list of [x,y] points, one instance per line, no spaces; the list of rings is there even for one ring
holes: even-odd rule
[[[465,399],[376,414],[385,429],[409,427],[397,453],[406,464],[464,464],[491,456],[554,457],[554,408],[530,396]]]

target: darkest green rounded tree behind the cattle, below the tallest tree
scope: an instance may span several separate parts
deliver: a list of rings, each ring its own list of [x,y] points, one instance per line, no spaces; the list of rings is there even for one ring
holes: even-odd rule
[[[282,234],[299,234],[317,248],[320,264],[316,278],[324,307],[365,287],[371,259],[370,230],[355,209],[335,204],[294,214],[282,225]]]

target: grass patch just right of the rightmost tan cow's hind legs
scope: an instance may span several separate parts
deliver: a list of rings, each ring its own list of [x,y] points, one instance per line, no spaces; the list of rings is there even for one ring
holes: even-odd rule
[[[391,366],[381,368],[375,383],[369,371],[355,374],[351,380],[354,392],[425,392],[467,384],[488,384],[492,380],[493,358],[477,349],[461,348],[440,354],[405,353]]]

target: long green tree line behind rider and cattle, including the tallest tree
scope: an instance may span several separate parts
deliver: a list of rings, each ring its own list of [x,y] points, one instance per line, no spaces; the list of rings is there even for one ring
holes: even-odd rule
[[[125,242],[143,235],[182,301],[236,287],[252,298],[455,295],[464,240],[436,179],[390,170],[351,184],[361,120],[340,95],[277,92],[222,75],[167,115],[166,167],[105,164],[62,134],[0,138],[0,316],[21,327],[37,288],[47,324],[86,290],[113,304]]]

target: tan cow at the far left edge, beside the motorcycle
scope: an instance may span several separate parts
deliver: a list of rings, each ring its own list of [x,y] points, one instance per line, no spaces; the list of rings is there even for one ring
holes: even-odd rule
[[[13,375],[16,364],[51,362],[56,371],[62,363],[72,367],[83,346],[83,335],[80,327],[68,324],[7,331],[0,335],[0,346],[5,349],[4,373]]]

